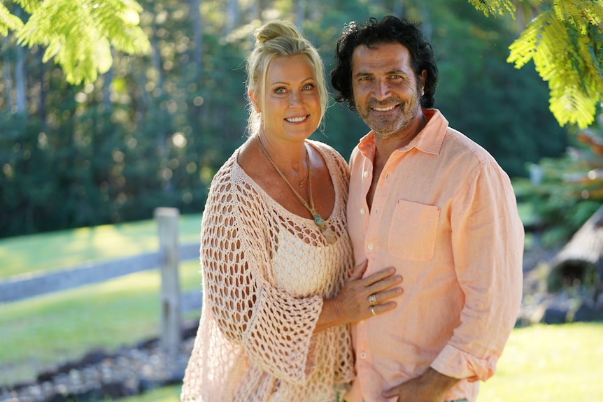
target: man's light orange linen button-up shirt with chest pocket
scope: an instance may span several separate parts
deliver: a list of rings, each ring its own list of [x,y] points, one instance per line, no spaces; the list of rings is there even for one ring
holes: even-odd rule
[[[418,136],[392,153],[372,208],[374,134],[350,159],[348,231],[371,275],[404,278],[395,310],[352,327],[356,379],[346,401],[388,401],[381,392],[424,373],[460,378],[446,401],[474,402],[495,372],[522,292],[523,225],[511,181],[480,145],[436,109]],[[391,399],[395,401],[395,399]]]

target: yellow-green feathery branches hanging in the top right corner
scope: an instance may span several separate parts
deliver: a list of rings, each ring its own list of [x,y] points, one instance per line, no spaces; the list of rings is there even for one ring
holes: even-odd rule
[[[603,4],[596,0],[469,0],[488,16],[536,16],[511,44],[517,69],[532,60],[550,90],[550,109],[561,126],[584,129],[603,101]]]

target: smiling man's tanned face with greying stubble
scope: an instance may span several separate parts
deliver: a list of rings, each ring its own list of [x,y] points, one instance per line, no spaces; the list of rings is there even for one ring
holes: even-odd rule
[[[358,46],[352,55],[352,88],[362,120],[377,136],[398,134],[421,112],[426,73],[417,80],[411,55],[399,43]]]

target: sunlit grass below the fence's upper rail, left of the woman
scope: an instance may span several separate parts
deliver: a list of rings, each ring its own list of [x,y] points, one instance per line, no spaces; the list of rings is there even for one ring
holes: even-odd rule
[[[179,273],[184,291],[200,287],[198,261],[183,262]],[[159,271],[151,270],[0,304],[0,385],[33,380],[94,348],[111,352],[158,336],[159,287]]]

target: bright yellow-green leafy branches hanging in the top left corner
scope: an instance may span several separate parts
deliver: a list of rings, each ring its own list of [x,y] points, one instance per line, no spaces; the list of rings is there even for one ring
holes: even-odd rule
[[[15,0],[27,22],[0,3],[0,35],[15,31],[20,45],[45,47],[43,62],[54,58],[72,84],[94,82],[111,68],[111,46],[145,53],[149,41],[134,0]]]

